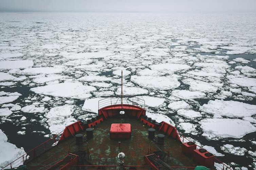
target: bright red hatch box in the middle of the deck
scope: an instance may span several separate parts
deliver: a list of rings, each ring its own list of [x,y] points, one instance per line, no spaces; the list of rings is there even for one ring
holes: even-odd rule
[[[112,123],[110,127],[110,138],[130,138],[131,124],[130,123]]]

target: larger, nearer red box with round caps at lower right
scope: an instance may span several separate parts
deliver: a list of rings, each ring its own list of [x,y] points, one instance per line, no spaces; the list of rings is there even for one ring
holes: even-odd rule
[[[214,166],[214,155],[202,148],[194,150],[193,160],[208,168]]]

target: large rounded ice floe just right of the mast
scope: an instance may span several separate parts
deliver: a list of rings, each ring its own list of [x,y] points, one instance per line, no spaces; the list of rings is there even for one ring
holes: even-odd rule
[[[180,86],[177,78],[162,76],[131,76],[131,81],[140,87],[154,90],[169,90]]]

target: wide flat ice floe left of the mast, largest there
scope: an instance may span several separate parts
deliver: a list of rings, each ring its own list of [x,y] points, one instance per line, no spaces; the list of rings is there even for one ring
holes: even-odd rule
[[[90,92],[95,90],[96,88],[85,86],[80,82],[64,82],[31,88],[31,91],[38,94],[75,99],[89,98],[91,96]]]

